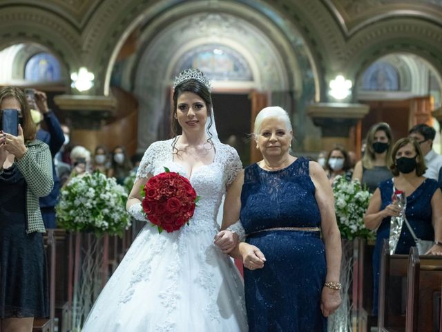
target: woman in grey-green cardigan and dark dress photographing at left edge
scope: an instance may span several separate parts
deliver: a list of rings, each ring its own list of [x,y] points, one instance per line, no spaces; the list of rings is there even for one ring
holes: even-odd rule
[[[20,89],[1,89],[0,107],[16,109],[21,123],[17,136],[0,133],[0,330],[32,331],[34,317],[48,316],[39,197],[52,190],[52,158],[48,145],[35,140]]]

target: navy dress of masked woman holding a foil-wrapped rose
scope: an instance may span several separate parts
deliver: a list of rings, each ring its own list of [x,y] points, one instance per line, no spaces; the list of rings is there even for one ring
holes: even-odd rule
[[[434,192],[438,189],[439,185],[437,181],[427,178],[410,196],[407,196],[405,216],[416,233],[416,237],[419,237],[419,239],[434,241],[431,199]],[[381,182],[379,190],[381,190],[381,208],[379,210],[382,211],[387,205],[392,203],[392,179],[390,178],[387,181]],[[373,253],[373,315],[378,315],[379,268],[381,267],[381,252],[384,239],[390,237],[390,219],[390,216],[383,219],[376,231],[376,245],[374,246]],[[408,255],[412,246],[416,246],[412,234],[410,234],[407,225],[403,225],[398,246],[394,253],[398,255]]]

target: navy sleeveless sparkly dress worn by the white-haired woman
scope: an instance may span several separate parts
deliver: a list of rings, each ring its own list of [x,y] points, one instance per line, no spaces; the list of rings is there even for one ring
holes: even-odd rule
[[[271,230],[319,228],[320,212],[309,176],[309,160],[298,158],[278,171],[250,165],[244,170],[240,218],[247,243],[267,261],[244,268],[249,331],[327,331],[320,311],[326,275],[320,232]]]

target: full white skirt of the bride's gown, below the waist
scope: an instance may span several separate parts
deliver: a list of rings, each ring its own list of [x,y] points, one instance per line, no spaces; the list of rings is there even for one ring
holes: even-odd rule
[[[84,332],[248,331],[244,286],[217,230],[146,225],[104,287]]]

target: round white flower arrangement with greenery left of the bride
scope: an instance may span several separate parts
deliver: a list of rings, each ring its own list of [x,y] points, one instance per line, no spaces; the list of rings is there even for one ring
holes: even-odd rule
[[[77,176],[61,190],[58,224],[66,230],[122,235],[131,225],[126,201],[126,190],[115,178],[99,172]]]

